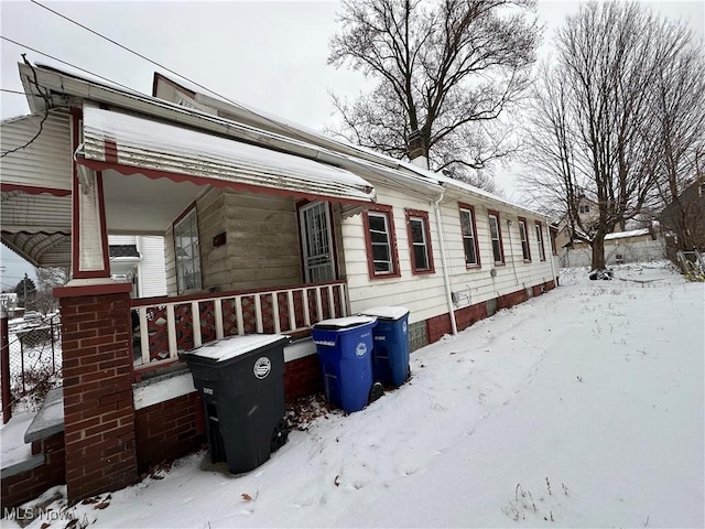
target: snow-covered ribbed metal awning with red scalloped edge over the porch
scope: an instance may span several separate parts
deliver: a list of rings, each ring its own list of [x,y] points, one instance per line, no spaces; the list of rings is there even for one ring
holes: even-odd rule
[[[177,182],[343,203],[370,203],[375,188],[349,171],[262,147],[84,106],[78,163]]]

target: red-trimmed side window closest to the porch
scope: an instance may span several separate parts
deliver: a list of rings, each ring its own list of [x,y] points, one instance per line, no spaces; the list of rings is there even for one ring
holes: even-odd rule
[[[362,214],[367,268],[370,278],[399,277],[394,220],[390,206],[380,206]]]

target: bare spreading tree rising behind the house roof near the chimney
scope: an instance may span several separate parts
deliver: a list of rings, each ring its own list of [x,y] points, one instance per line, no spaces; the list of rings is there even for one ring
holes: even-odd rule
[[[434,170],[481,169],[516,149],[501,117],[522,97],[540,30],[535,0],[344,0],[328,62],[379,82],[330,130],[394,158],[412,134]]]

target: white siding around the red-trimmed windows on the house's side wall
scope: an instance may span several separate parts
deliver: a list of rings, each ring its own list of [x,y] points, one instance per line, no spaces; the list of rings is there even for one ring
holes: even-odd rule
[[[393,207],[401,277],[389,279],[369,278],[362,216],[356,215],[345,219],[343,222],[343,246],[351,311],[355,313],[373,305],[403,305],[411,310],[410,322],[412,323],[447,313],[441,245],[431,197],[423,198],[420,195],[411,194],[406,190],[398,191],[378,182],[375,183],[375,186],[378,192],[378,203]],[[468,270],[465,266],[458,202],[470,204],[475,207],[476,237],[478,238],[481,263],[478,269]],[[405,208],[429,213],[429,230],[433,247],[435,273],[412,273]],[[494,263],[488,209],[497,210],[500,215],[506,262],[503,266]],[[535,240],[535,229],[533,228],[534,220],[542,222],[546,258],[551,259],[553,256],[545,219],[527,217],[532,261],[524,263],[521,253],[518,216],[527,216],[525,210],[514,209],[509,205],[498,205],[497,203],[488,204],[481,198],[455,195],[444,198],[441,204],[441,216],[452,291],[458,293],[458,302],[455,304],[455,309],[462,309],[528,289],[553,279],[551,261],[539,260],[539,247]],[[509,227],[507,226],[508,219],[512,223]],[[492,276],[492,269],[496,270],[496,276]]]

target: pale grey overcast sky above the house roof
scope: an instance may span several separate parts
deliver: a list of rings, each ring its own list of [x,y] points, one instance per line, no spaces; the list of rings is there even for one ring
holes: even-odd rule
[[[338,28],[336,1],[42,3],[229,99],[314,129],[335,120],[329,90],[354,98],[372,86],[362,74],[326,63],[328,40]],[[704,34],[703,0],[648,3]],[[577,7],[539,2],[540,22],[546,24],[544,51],[553,31]],[[0,0],[0,32],[22,44],[0,41],[0,86],[6,90],[22,89],[17,68],[22,53],[30,61],[65,67],[37,52],[52,55],[143,94],[151,94],[152,75],[161,71],[30,1]],[[0,111],[6,119],[29,108],[24,96],[2,91]],[[511,175],[500,179],[507,196],[516,199]],[[0,258],[3,289],[32,272],[4,247]]]

